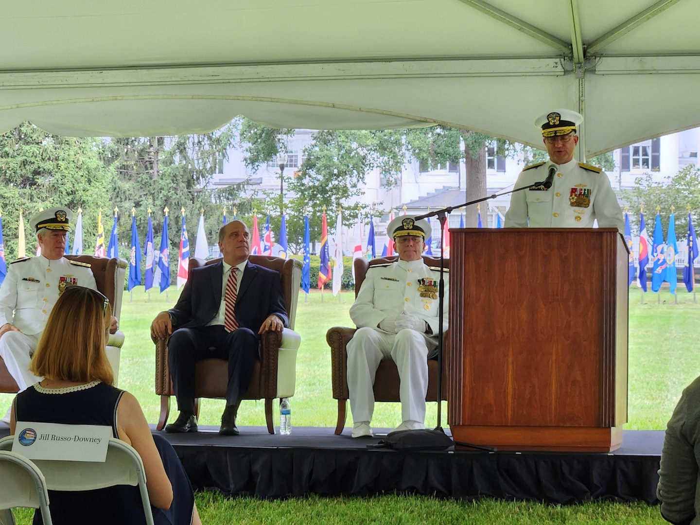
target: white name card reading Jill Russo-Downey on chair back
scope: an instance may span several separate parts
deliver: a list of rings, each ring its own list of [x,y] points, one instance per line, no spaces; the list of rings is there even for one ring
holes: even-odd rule
[[[104,463],[111,426],[18,421],[12,451],[29,459]]]

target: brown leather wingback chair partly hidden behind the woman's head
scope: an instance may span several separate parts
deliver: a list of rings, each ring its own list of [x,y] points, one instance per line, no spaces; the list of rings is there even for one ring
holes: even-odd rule
[[[118,258],[94,257],[94,255],[66,255],[66,259],[87,262],[92,269],[97,289],[104,293],[112,306],[112,315],[120,318],[122,309],[122,296],[124,294],[124,276],[127,262]],[[114,372],[114,382],[119,377],[119,356],[124,344],[124,334],[118,330],[109,336],[107,342],[107,357]],[[7,367],[0,358],[0,392],[15,393],[18,391],[15,379],[7,371]]]

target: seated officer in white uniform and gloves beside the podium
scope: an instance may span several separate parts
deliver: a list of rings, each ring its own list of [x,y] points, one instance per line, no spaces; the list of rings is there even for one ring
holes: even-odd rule
[[[358,327],[347,344],[352,437],[372,435],[372,385],[382,359],[391,359],[398,367],[402,423],[396,430],[425,428],[428,358],[437,353],[440,328],[440,269],[423,263],[425,239],[431,234],[428,221],[404,215],[391,221],[386,232],[395,241],[399,260],[370,267],[350,307],[350,317]],[[446,280],[444,330],[447,302]]]

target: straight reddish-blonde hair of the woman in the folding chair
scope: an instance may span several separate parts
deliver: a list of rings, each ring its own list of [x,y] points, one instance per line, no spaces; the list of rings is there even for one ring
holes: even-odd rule
[[[67,286],[53,307],[29,371],[54,381],[113,384],[104,347],[112,309],[90,288]],[[82,322],[81,322],[82,321]]]

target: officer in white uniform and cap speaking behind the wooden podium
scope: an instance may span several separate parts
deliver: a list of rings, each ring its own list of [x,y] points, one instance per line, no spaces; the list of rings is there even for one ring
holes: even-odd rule
[[[522,190],[510,196],[505,228],[617,228],[624,232],[622,209],[602,169],[576,162],[577,127],[583,117],[575,111],[556,109],[535,120],[549,154],[520,172],[515,188],[547,180],[552,169],[551,188]]]

